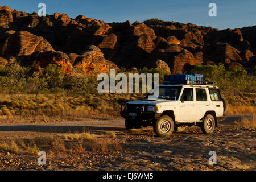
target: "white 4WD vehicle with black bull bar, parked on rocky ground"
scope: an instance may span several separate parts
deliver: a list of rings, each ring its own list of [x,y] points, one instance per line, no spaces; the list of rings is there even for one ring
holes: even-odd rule
[[[121,105],[126,129],[139,133],[143,127],[153,126],[160,137],[168,137],[187,126],[200,126],[204,133],[212,133],[217,121],[224,117],[225,100],[214,84],[159,85],[159,96]]]

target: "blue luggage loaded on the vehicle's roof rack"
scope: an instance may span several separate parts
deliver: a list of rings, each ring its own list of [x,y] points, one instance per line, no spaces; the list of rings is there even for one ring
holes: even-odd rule
[[[215,85],[212,81],[203,81],[201,74],[178,74],[178,75],[164,75],[163,84],[202,84]]]

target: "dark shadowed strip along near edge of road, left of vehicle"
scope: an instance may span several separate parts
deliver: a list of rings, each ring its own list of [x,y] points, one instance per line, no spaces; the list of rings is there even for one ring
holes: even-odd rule
[[[0,131],[31,131],[51,133],[82,133],[90,131],[126,131],[119,127],[97,127],[97,126],[47,126],[47,125],[12,125],[0,126]]]

